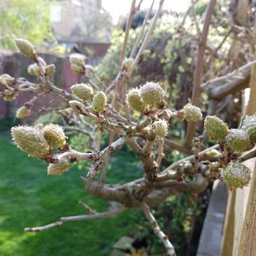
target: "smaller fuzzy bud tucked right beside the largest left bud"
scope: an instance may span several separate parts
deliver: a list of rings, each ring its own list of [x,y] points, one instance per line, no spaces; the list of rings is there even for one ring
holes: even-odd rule
[[[42,129],[46,141],[51,148],[63,148],[66,144],[66,137],[63,128],[59,125],[45,125]]]

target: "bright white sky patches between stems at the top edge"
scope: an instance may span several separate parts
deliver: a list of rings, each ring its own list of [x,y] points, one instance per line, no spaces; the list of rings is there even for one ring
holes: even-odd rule
[[[139,3],[139,0],[137,0]],[[152,0],[143,0],[141,9],[148,9],[152,3]],[[157,9],[159,0],[155,0],[154,9]],[[172,11],[186,11],[189,7],[191,0],[165,0],[163,9]],[[131,7],[131,0],[102,0],[102,7],[106,11],[110,12],[113,18],[114,24],[117,24],[119,15],[125,15],[129,13]]]

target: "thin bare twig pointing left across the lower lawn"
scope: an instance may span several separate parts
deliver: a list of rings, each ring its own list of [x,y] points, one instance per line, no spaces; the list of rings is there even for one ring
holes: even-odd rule
[[[108,211],[108,212],[100,212],[96,214],[88,214],[88,215],[79,215],[79,216],[69,216],[69,217],[61,217],[57,222],[53,222],[51,224],[47,224],[45,226],[38,226],[34,228],[24,228],[25,232],[41,232],[44,230],[47,230],[49,228],[53,228],[55,226],[61,226],[65,222],[74,222],[77,220],[90,220],[90,219],[96,219],[96,218],[102,218],[102,217],[110,217],[115,216],[116,214],[119,214],[126,210],[126,207],[120,207],[118,209]]]

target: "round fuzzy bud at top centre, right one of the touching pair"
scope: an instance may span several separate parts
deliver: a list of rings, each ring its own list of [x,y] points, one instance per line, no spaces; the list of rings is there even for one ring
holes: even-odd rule
[[[145,104],[158,104],[164,101],[164,90],[158,83],[148,82],[139,89],[142,101]]]

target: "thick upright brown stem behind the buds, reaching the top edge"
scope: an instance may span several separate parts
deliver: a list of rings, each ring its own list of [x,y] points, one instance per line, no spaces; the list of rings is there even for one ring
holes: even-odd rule
[[[216,4],[216,0],[211,0],[207,6],[207,11],[205,15],[205,20],[203,23],[203,32],[201,34],[201,39],[199,41],[198,53],[197,53],[197,63],[195,66],[194,73],[194,81],[193,81],[193,93],[191,98],[191,104],[198,106],[200,100],[200,84],[201,84],[201,75],[203,73],[203,63],[204,63],[204,55],[205,55],[205,45],[207,42],[207,34],[209,31],[212,13],[214,11],[214,6]],[[190,148],[191,139],[193,137],[195,131],[195,123],[189,123],[187,127],[187,134],[185,137],[184,145],[186,148]]]

